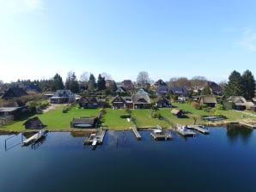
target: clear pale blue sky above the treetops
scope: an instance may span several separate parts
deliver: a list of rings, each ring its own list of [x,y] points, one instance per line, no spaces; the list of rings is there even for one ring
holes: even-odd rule
[[[0,0],[0,80],[256,75],[255,0]]]

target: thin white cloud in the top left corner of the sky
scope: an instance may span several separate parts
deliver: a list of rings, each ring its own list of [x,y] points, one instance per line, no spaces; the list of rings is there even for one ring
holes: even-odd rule
[[[43,0],[0,0],[2,14],[16,15],[44,9]]]

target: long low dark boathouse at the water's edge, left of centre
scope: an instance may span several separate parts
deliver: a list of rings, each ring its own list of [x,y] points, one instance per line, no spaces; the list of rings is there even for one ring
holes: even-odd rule
[[[73,118],[70,122],[71,128],[95,128],[97,126],[97,117],[80,117]]]

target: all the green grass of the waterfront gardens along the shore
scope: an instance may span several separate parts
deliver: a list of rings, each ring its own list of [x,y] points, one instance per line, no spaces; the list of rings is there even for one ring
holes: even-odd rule
[[[194,109],[191,105],[188,104],[174,104],[174,107],[179,108],[183,111],[188,111],[186,113],[185,118],[177,118],[171,114],[171,110],[173,108],[164,108],[160,109],[159,112],[162,114],[163,117],[167,117],[168,120],[176,125],[176,123],[180,124],[192,124],[194,120],[192,117],[197,118],[197,123],[207,123],[202,120],[202,116],[210,115],[210,113],[204,110],[197,110]],[[73,107],[68,113],[63,113],[64,106],[46,112],[44,114],[36,115],[40,117],[40,120],[47,125],[47,129],[49,130],[70,130],[70,122],[72,121],[73,117],[89,117],[89,116],[97,116],[100,112],[100,109],[77,109]],[[113,129],[113,130],[123,130],[129,129],[134,124],[132,122],[127,122],[126,119],[121,118],[121,115],[126,114],[125,110],[112,110],[110,108],[105,109],[106,114],[101,118],[101,123],[104,128]],[[241,114],[238,111],[220,111],[222,115],[227,117],[227,121],[237,121],[245,118],[254,119],[256,117],[247,116]],[[146,128],[146,127],[155,127],[157,124],[162,126],[163,128],[171,127],[170,124],[166,123],[163,120],[159,120],[158,118],[150,117],[150,110],[131,110],[131,115],[135,117],[137,121],[137,127],[139,128]],[[0,129],[5,131],[23,131],[25,130],[24,126],[22,125],[25,121],[18,121],[8,125],[1,127]]]

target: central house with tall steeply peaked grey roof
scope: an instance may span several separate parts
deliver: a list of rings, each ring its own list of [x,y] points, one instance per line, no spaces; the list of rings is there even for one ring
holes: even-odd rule
[[[133,109],[149,109],[151,107],[151,101],[149,94],[146,93],[143,88],[139,89],[136,94],[131,96]]]

